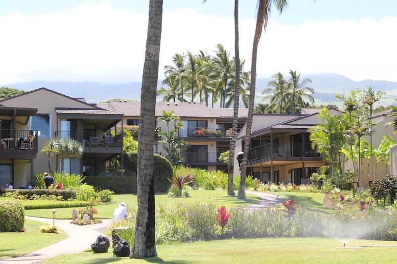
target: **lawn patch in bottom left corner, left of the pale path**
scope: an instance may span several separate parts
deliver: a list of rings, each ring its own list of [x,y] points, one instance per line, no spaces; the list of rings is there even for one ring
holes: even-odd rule
[[[42,222],[25,220],[25,232],[0,233],[0,260],[20,257],[41,248],[57,243],[67,237],[62,230],[60,234],[41,233]]]

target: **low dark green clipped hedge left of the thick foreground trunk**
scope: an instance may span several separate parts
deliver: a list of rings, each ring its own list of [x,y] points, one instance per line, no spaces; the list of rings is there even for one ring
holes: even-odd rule
[[[109,189],[116,194],[136,193],[136,174],[131,173],[127,176],[86,176],[84,183],[92,185],[95,188]]]

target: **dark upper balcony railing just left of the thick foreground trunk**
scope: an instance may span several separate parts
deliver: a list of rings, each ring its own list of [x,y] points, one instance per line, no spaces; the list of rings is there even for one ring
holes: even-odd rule
[[[56,131],[55,136],[80,141],[80,137],[76,131]],[[117,134],[116,136],[99,136],[96,131],[83,131],[80,143],[84,147],[121,147],[122,137],[121,134]]]

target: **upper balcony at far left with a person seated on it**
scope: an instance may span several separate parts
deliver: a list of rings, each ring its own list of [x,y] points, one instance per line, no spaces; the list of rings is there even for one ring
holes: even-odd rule
[[[36,158],[37,131],[33,132],[33,138],[29,139],[30,130],[0,130],[0,158]]]

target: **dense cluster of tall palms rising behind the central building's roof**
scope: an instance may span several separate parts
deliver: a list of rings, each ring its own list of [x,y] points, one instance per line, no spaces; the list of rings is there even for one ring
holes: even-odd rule
[[[240,94],[244,106],[248,106],[250,73],[243,71],[244,60],[240,62]],[[199,51],[172,56],[172,65],[164,67],[163,87],[157,91],[164,102],[193,102],[195,98],[208,106],[229,107],[234,103],[235,59],[221,44],[216,45],[214,54]]]

